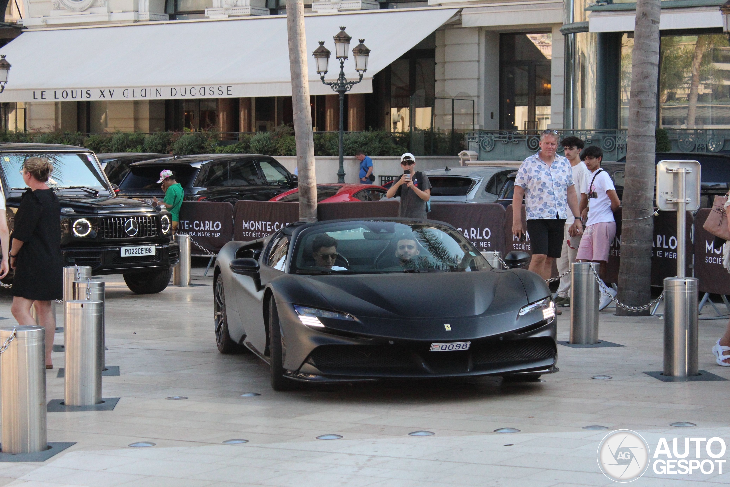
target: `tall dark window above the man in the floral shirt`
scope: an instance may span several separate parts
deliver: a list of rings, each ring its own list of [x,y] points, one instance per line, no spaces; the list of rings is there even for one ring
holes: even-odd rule
[[[500,128],[544,130],[550,123],[552,34],[501,34]]]

